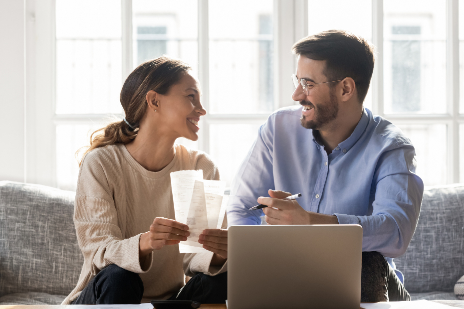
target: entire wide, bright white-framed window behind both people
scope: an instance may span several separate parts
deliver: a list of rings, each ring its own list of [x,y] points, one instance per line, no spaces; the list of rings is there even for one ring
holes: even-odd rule
[[[334,28],[375,45],[364,106],[412,140],[425,184],[464,181],[463,1],[55,0],[55,184],[75,188],[74,153],[109,115],[123,117],[125,77],[166,54],[193,67],[208,111],[199,140],[178,142],[211,154],[230,186],[259,126],[292,104],[291,44]]]

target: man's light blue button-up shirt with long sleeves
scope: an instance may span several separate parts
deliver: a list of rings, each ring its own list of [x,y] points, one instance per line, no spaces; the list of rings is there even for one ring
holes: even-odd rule
[[[229,226],[261,224],[262,210],[248,209],[268,189],[302,193],[305,210],[361,225],[363,251],[380,252],[395,269],[392,258],[408,248],[424,192],[411,141],[365,109],[351,136],[327,154],[317,132],[301,126],[301,109],[277,110],[259,128],[232,181]]]

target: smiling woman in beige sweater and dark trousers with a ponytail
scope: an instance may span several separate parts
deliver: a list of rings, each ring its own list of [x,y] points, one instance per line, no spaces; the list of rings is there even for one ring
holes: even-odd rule
[[[203,169],[205,179],[219,180],[207,154],[175,145],[179,137],[198,140],[206,114],[190,70],[168,57],[141,64],[121,90],[124,120],[92,134],[74,207],[84,265],[63,304],[225,302],[227,231],[203,232],[209,253],[179,254],[189,228],[173,220],[171,172]],[[183,288],[184,273],[195,277]]]

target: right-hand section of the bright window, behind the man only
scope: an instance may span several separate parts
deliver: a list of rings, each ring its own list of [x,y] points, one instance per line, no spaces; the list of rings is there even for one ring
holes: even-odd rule
[[[464,118],[457,89],[450,88],[457,70],[449,64],[456,63],[451,51],[458,50],[456,8],[456,0],[308,0],[309,33],[345,29],[373,42],[376,63],[364,106],[411,139],[426,185],[464,181],[458,149]]]

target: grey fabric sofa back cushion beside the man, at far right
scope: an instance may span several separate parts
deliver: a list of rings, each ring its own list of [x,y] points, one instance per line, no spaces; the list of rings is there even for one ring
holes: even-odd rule
[[[464,274],[464,184],[428,187],[416,232],[396,267],[409,293],[453,292]]]

